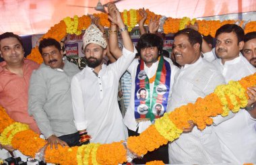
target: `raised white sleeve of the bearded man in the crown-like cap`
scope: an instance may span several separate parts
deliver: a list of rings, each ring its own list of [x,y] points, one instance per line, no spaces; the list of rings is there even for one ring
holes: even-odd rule
[[[129,67],[133,59],[135,58],[135,54],[137,50],[134,48],[134,52],[130,52],[125,47],[123,48],[123,56],[121,56],[117,62],[114,62],[112,65],[114,70],[117,70],[117,75],[119,78],[123,75],[125,70]]]

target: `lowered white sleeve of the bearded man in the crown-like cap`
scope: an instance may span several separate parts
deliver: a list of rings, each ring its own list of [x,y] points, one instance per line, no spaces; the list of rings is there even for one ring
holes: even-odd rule
[[[75,127],[78,131],[84,130],[87,128],[88,122],[86,121],[82,89],[79,85],[79,80],[77,80],[76,76],[73,76],[71,81],[71,95]]]

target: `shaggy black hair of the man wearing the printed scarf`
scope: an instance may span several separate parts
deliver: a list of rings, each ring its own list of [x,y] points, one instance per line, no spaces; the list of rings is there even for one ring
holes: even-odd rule
[[[156,34],[142,34],[139,38],[139,41],[137,42],[137,48],[138,52],[142,48],[149,48],[156,46],[158,48],[158,52],[162,54],[162,46],[164,45],[164,42],[160,36]]]

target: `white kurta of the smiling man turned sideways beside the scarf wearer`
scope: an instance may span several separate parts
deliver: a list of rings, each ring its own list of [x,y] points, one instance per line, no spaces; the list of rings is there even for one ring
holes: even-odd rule
[[[174,78],[172,99],[168,111],[181,105],[195,103],[205,97],[216,86],[225,84],[224,77],[210,62],[199,58],[194,64],[186,64]],[[212,126],[200,131],[195,126],[190,133],[183,133],[169,144],[169,161],[172,164],[213,164],[221,162],[220,142]]]

